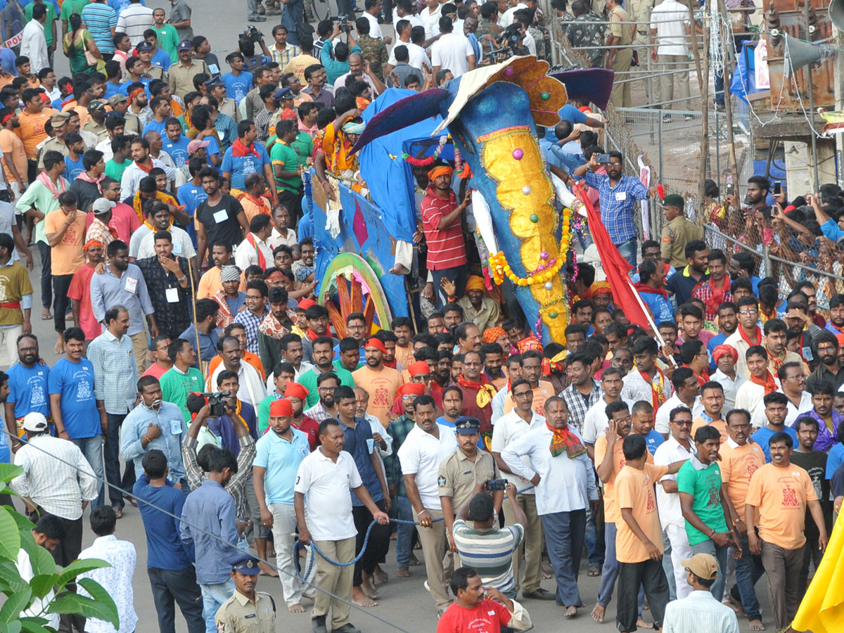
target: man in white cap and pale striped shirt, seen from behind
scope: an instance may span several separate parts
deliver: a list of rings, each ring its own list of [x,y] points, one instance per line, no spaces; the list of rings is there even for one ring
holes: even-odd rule
[[[51,514],[62,519],[65,538],[51,553],[57,565],[67,566],[82,551],[82,512],[97,496],[97,480],[72,441],[50,435],[43,414],[33,411],[24,415],[24,430],[28,440],[14,454],[15,465],[24,472],[12,479],[11,485],[23,497],[30,517]],[[70,585],[68,589],[73,591]],[[70,630],[70,616],[63,615],[64,619]]]

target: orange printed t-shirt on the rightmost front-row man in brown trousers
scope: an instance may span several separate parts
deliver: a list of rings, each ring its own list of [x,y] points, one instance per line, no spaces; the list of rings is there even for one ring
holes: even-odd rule
[[[766,463],[750,478],[745,503],[759,508],[760,538],[782,549],[798,549],[806,543],[806,502],[817,499],[803,468]]]

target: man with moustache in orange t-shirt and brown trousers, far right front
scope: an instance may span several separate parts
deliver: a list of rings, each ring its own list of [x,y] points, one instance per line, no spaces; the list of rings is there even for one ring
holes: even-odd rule
[[[826,549],[826,524],[812,479],[803,468],[791,463],[794,442],[787,433],[775,433],[768,440],[771,463],[753,473],[744,500],[744,522],[748,525],[750,552],[762,555],[771,590],[771,611],[776,630],[786,628],[797,614],[798,583],[806,536],[803,533],[806,507],[818,526],[818,544]],[[751,524],[759,511],[759,536]]]

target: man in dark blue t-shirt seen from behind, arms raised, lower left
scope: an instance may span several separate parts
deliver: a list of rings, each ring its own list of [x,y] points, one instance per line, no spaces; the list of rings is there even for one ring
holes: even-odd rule
[[[159,628],[172,630],[175,600],[187,620],[187,630],[205,630],[203,594],[197,585],[193,553],[186,551],[179,538],[179,519],[173,518],[181,517],[187,490],[178,490],[167,480],[167,457],[163,452],[148,451],[141,465],[143,475],[135,482],[132,494],[150,504],[139,503],[138,510],[147,534],[147,574]]]

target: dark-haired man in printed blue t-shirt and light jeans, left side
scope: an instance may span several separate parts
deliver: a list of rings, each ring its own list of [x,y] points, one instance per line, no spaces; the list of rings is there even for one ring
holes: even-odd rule
[[[70,440],[82,454],[99,480],[99,496],[92,506],[103,502],[103,430],[108,428],[105,406],[97,410],[94,398],[94,365],[82,358],[85,333],[81,327],[69,327],[64,332],[65,357],[53,365],[47,379],[50,404],[57,435]]]

